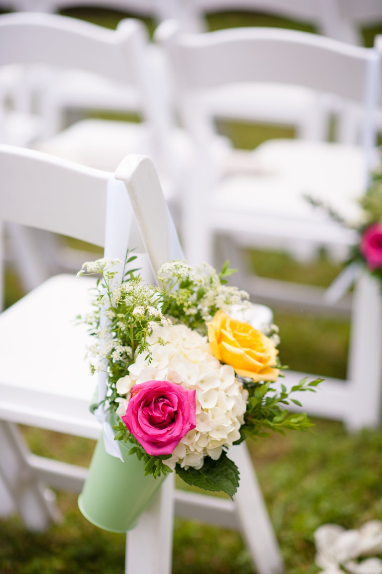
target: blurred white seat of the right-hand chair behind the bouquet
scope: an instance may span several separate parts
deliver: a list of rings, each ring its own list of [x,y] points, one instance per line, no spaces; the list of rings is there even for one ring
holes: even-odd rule
[[[323,201],[350,222],[359,222],[357,200],[364,191],[365,164],[358,148],[272,140],[244,160],[246,173],[225,177],[211,196],[215,227],[234,229],[241,218],[241,231],[252,234],[256,229],[263,233],[268,226],[272,235],[293,237],[299,227],[306,241],[345,245],[356,241],[355,232],[314,210],[304,195]]]

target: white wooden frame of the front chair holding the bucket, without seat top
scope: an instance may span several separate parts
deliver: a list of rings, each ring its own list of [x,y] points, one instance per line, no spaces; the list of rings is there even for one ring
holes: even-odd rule
[[[122,181],[116,181],[107,172],[29,150],[0,146],[0,177],[2,189],[14,190],[14,193],[3,192],[0,197],[4,218],[22,224],[33,223],[96,245],[106,243],[106,256],[123,258],[127,243],[141,243],[132,205],[153,269],[181,255],[149,158],[127,157],[116,172],[116,178]],[[89,205],[92,206],[91,218],[86,217]],[[47,287],[42,285],[36,293],[39,289]],[[33,296],[31,293],[25,301],[33,304]],[[25,305],[25,301],[21,304]],[[3,316],[6,313],[12,310]],[[0,320],[0,328],[3,325]],[[13,506],[30,529],[43,530],[57,519],[46,486],[80,491],[86,470],[33,455],[14,423],[97,439],[100,427],[87,412],[89,401],[77,392],[80,384],[81,381],[76,383],[75,391],[68,396],[54,385],[46,391],[33,387],[28,390],[22,382],[10,386],[0,378],[0,490],[6,492],[0,502],[0,513],[9,513]],[[232,449],[232,455],[241,471],[241,486],[234,502],[181,491],[174,495],[173,482],[171,478],[167,480],[137,528],[127,537],[127,574],[137,571],[170,574],[173,505],[175,512],[184,517],[240,529],[259,573],[282,572],[278,546],[248,452],[240,445]],[[150,553],[142,554],[147,544]]]

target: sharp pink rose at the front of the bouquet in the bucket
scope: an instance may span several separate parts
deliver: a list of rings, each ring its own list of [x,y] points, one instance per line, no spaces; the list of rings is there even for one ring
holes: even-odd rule
[[[195,390],[169,381],[147,381],[130,392],[122,420],[148,455],[170,455],[196,427]]]

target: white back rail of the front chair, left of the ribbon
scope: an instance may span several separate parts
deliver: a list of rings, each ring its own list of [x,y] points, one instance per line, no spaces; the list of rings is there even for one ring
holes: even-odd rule
[[[1,218],[103,246],[112,174],[0,145]]]

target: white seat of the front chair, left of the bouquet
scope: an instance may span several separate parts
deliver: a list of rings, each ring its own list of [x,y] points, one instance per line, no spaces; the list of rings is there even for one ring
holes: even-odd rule
[[[84,360],[91,337],[76,320],[91,310],[88,290],[94,285],[89,278],[55,276],[0,315],[0,418],[99,436],[89,412],[97,377]]]

